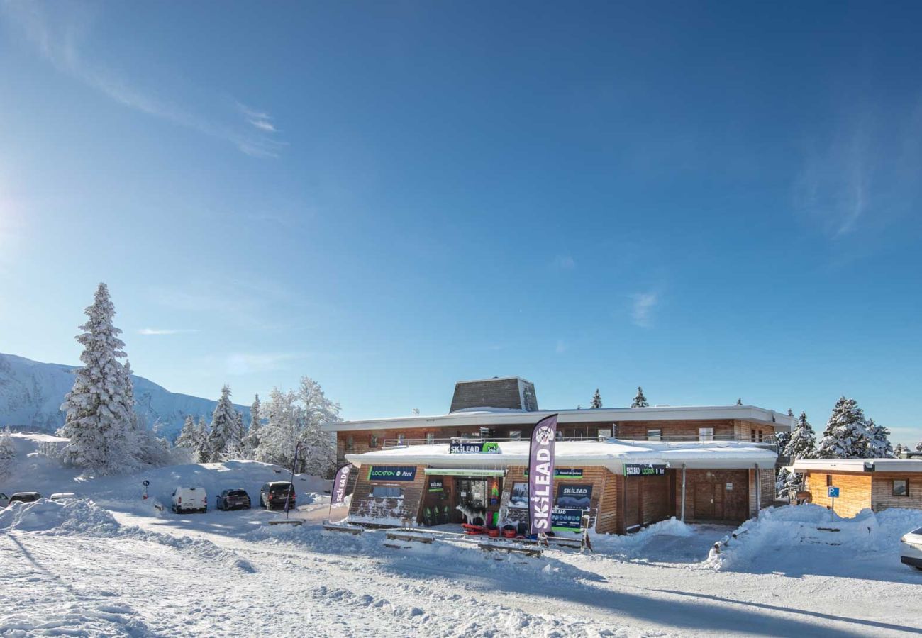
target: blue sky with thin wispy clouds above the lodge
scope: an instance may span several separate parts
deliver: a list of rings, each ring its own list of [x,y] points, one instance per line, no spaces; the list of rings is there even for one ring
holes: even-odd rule
[[[922,439],[922,5],[0,2],[0,351]]]

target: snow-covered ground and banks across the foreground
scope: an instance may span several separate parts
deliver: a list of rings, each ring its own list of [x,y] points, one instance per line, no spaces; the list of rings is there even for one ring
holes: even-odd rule
[[[831,522],[818,507],[782,508],[712,556],[730,527],[666,521],[596,536],[595,554],[509,558],[464,539],[389,549],[383,532],[323,531],[316,479],[299,488],[304,526],[264,525],[284,514],[258,509],[180,516],[150,504],[177,480],[214,493],[279,478],[263,464],[162,468],[148,473],[152,499],[142,502],[140,476],[78,481],[39,455],[30,463],[36,489],[84,498],[0,512],[0,635],[922,632],[922,572],[900,564],[897,548],[922,526],[919,512]]]

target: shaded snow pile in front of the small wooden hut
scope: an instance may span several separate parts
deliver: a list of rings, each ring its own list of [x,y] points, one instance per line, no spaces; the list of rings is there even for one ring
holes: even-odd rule
[[[922,512],[918,510],[889,509],[874,514],[866,509],[854,518],[841,518],[820,505],[786,505],[764,510],[759,518],[743,523],[732,537],[723,539],[726,544],[720,552],[712,551],[705,562],[717,570],[741,570],[760,557],[798,546],[845,549],[851,557],[892,554],[899,551],[899,538],[919,526]]]

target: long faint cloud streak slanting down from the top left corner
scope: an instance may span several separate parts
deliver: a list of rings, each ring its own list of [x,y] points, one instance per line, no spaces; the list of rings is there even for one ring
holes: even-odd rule
[[[253,157],[278,157],[285,145],[272,136],[275,126],[263,112],[254,116],[228,112],[214,96],[208,104],[209,115],[162,98],[164,87],[143,88],[120,76],[111,67],[84,56],[83,42],[91,35],[89,14],[78,5],[53,5],[46,9],[39,3],[0,2],[0,20],[8,30],[19,34],[59,72],[72,77],[123,106],[172,124],[193,129],[203,135],[231,142]],[[142,74],[132,73],[132,77]],[[258,116],[258,117],[256,117]],[[251,126],[247,126],[251,124]]]

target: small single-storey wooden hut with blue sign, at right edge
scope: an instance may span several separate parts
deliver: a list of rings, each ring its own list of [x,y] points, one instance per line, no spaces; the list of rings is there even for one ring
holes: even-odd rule
[[[810,502],[833,506],[835,514],[850,517],[870,508],[922,509],[922,458],[801,459],[794,471],[804,475]],[[839,496],[829,497],[829,488]]]

